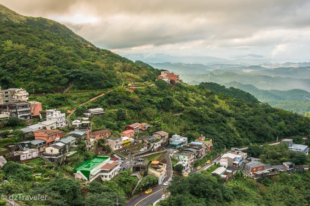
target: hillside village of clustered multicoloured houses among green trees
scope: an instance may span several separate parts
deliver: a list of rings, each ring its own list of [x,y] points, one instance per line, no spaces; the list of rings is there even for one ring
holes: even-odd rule
[[[168,84],[179,83],[178,77],[171,79],[171,77],[166,76],[167,74],[172,74],[175,78],[173,73],[168,72],[162,72],[158,78],[164,79]],[[83,113],[83,117],[78,117],[68,124],[66,123],[65,113],[56,109],[42,111],[41,103],[27,102],[28,96],[29,93],[22,88],[0,90],[1,120],[7,120],[10,117],[17,117],[20,120],[32,118],[43,120],[44,116],[44,121],[20,128],[20,131],[23,132],[23,141],[3,145],[0,153],[2,165],[7,161],[23,163],[34,158],[42,158],[54,166],[62,166],[67,164],[70,158],[77,155],[78,150],[75,148],[95,152],[100,150],[96,147],[100,141],[106,146],[107,150],[104,153],[108,153],[108,156],[102,156],[102,152],[96,152],[98,156],[91,157],[73,168],[74,178],[85,183],[98,177],[101,177],[102,181],[111,180],[127,169],[139,175],[153,173],[157,177],[163,175],[165,178],[167,172],[163,171],[166,170],[167,164],[171,162],[170,160],[167,161],[161,156],[156,160],[147,162],[141,158],[141,155],[143,157],[147,156],[148,153],[164,153],[166,148],[170,148],[171,158],[178,161],[173,165],[173,168],[178,164],[183,166],[183,169],[179,172],[175,171],[175,174],[184,177],[187,177],[191,172],[208,169],[212,165],[218,165],[218,167],[211,174],[219,175],[225,181],[232,179],[237,171],[242,171],[244,175],[257,180],[258,178],[277,175],[278,172],[290,173],[309,170],[308,165],[295,165],[294,162],[283,162],[282,165],[263,164],[258,158],[249,158],[247,153],[242,152],[243,149],[238,148],[232,148],[232,151],[220,155],[217,153],[214,161],[209,160],[202,165],[203,167],[195,168],[196,162],[213,150],[212,139],[201,135],[194,141],[188,142],[187,137],[177,134],[169,137],[165,131],[153,130],[151,135],[139,136],[140,132],[148,132],[154,126],[145,122],[126,125],[124,131],[119,133],[120,137],[113,137],[108,128],[92,131],[91,119],[95,116],[105,115],[106,111],[103,108],[89,108]],[[160,124],[160,122],[156,124]],[[60,131],[64,127],[70,128],[72,131]],[[11,130],[11,132],[13,131]],[[10,137],[11,133],[1,136],[2,138],[4,136]],[[29,139],[29,137],[33,137],[33,139]],[[289,150],[308,155],[307,145],[293,144],[292,139],[283,139],[282,142],[288,145]],[[83,144],[81,145],[81,143]],[[139,155],[139,158],[133,159],[131,166],[121,166],[124,158],[129,158],[131,163],[131,155],[134,156],[135,154],[136,157]],[[159,184],[161,183],[159,182]]]

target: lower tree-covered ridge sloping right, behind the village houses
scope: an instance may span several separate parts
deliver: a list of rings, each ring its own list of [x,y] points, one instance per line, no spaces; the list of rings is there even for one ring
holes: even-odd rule
[[[215,90],[222,88],[217,85],[219,89],[216,89],[216,85],[213,85]],[[170,135],[177,133],[188,137],[189,142],[204,134],[214,140],[217,149],[255,142],[261,144],[277,137],[310,132],[308,117],[268,104],[248,102],[240,99],[247,96],[246,93],[235,92],[238,98],[201,85],[168,86],[163,80],[157,80],[155,86],[137,88],[134,92],[117,87],[86,107],[105,108],[104,116],[92,119],[94,130],[106,127],[117,134],[127,124],[160,121],[160,126],[152,130],[164,130]],[[86,107],[76,111],[75,115],[82,115]]]

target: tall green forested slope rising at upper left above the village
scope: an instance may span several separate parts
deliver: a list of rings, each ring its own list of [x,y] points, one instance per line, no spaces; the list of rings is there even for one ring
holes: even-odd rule
[[[96,48],[55,21],[18,15],[0,5],[0,85],[36,93],[99,89],[155,80],[158,69]],[[89,47],[88,44],[91,46]]]

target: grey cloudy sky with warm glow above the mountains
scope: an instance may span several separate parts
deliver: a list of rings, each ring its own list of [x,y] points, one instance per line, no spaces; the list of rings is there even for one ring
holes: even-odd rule
[[[310,1],[0,0],[120,55],[310,61]]]

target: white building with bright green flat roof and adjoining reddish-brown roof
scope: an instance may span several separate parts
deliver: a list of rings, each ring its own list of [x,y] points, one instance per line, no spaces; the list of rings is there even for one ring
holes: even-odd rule
[[[86,182],[97,177],[101,180],[111,180],[118,174],[119,162],[110,160],[110,157],[95,156],[73,168],[74,176]]]

